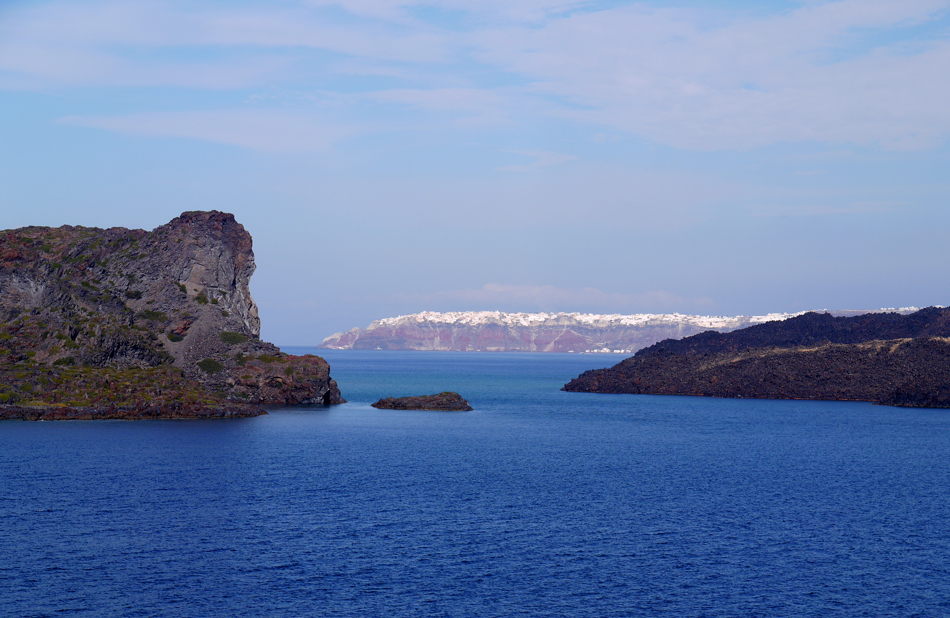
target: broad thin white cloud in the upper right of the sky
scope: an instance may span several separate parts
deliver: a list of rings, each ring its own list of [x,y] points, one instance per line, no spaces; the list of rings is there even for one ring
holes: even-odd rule
[[[538,92],[582,109],[559,113],[675,147],[754,148],[783,141],[926,147],[950,132],[935,79],[950,42],[908,49],[869,31],[942,16],[937,0],[810,3],[743,18],[645,6],[476,35],[486,63],[531,77]],[[844,52],[844,53],[843,53]]]

